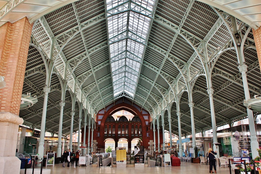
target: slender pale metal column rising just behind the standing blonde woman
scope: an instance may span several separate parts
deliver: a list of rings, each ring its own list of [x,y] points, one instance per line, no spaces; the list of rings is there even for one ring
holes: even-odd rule
[[[217,143],[217,126],[216,126],[216,116],[214,110],[214,102],[213,102],[213,89],[208,89],[207,93],[209,94],[209,101],[210,101],[210,112],[211,112],[211,122],[212,122],[212,132],[213,132],[213,151],[217,151],[217,147],[215,143]],[[217,153],[217,157],[219,158],[219,152]]]

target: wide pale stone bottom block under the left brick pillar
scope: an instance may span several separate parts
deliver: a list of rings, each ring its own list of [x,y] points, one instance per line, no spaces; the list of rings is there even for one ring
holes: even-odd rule
[[[21,160],[17,157],[0,157],[0,173],[20,173]]]

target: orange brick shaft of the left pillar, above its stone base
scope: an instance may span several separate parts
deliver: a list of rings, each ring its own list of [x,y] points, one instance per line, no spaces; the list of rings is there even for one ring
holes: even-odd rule
[[[0,76],[6,82],[0,89],[0,112],[19,115],[31,32],[26,17],[0,27]]]

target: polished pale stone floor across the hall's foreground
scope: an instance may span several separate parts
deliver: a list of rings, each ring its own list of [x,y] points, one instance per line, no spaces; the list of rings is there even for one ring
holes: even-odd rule
[[[39,167],[37,167],[39,168]],[[91,167],[91,166],[70,166],[62,167],[62,164],[55,164],[54,167],[44,167],[51,169],[52,174],[74,174],[74,173],[117,173],[117,174],[161,174],[161,173],[196,173],[207,174],[209,173],[209,165],[193,164],[193,163],[181,163],[180,167],[128,167],[128,168],[110,168],[110,167]],[[214,171],[214,168],[213,168]],[[217,167],[217,173],[229,173],[229,168]]]

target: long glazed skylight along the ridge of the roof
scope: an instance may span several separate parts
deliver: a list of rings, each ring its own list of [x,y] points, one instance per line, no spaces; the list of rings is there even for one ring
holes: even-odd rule
[[[134,96],[154,5],[152,0],[106,1],[114,97]]]

